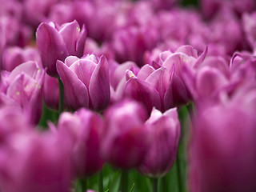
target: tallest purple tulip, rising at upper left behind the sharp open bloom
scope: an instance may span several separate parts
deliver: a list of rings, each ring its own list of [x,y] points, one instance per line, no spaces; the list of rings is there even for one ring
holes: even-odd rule
[[[68,22],[58,27],[53,22],[42,22],[36,33],[39,54],[42,66],[47,67],[47,73],[58,76],[56,70],[57,60],[64,62],[69,55],[82,57],[86,42],[86,30],[82,30],[78,22]]]

